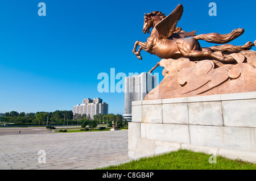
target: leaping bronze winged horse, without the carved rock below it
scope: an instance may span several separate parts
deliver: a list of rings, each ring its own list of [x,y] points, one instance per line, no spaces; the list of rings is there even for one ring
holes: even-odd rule
[[[154,11],[150,14],[145,14],[143,33],[149,33],[151,27],[152,31],[150,36],[147,38],[147,42],[136,41],[134,45],[133,53],[139,58],[139,60],[142,60],[140,52],[143,49],[148,53],[155,54],[159,58],[166,59],[186,57],[192,60],[193,58],[199,60],[200,58],[212,58],[222,62],[223,64],[236,61],[232,56],[225,57],[220,53],[214,53],[214,47],[201,48],[198,40],[205,40],[209,43],[225,44],[242,35],[244,32],[243,28],[238,28],[237,30],[233,30],[231,33],[225,35],[219,33],[208,33],[196,36],[196,31],[184,32],[181,31],[181,28],[176,27],[177,22],[180,20],[182,14],[182,5],[178,5],[176,9],[168,16],[164,16],[164,14],[162,14],[160,11]],[[140,47],[137,51],[138,45]],[[221,46],[217,47],[223,48]],[[229,49],[232,48],[232,50],[248,50],[252,46],[253,43],[251,42],[244,46],[227,45],[225,50],[229,51]]]

